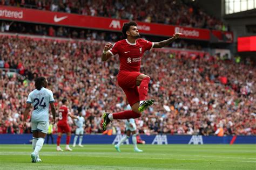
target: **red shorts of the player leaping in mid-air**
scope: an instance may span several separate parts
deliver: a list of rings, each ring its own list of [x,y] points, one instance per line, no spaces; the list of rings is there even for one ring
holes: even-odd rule
[[[121,71],[117,75],[118,85],[124,90],[131,107],[139,101],[139,90],[136,86],[136,79],[140,74],[142,73]]]

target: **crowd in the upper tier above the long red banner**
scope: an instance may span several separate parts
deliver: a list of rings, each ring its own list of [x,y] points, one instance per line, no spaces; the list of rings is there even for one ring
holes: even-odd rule
[[[86,16],[137,20],[188,27],[227,31],[220,20],[208,15],[190,1],[83,1],[83,0],[3,0],[2,5],[20,6],[39,10],[78,13]],[[173,17],[175,16],[175,17]]]

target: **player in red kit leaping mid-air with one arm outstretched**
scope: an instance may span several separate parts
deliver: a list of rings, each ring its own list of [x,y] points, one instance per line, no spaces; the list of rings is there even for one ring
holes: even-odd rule
[[[119,55],[120,69],[117,75],[117,82],[123,89],[132,110],[113,114],[104,112],[101,123],[104,131],[113,119],[138,118],[141,112],[153,104],[153,99],[145,101],[149,89],[150,76],[139,72],[142,56],[145,51],[152,48],[161,48],[169,45],[181,35],[180,33],[175,33],[170,39],[150,42],[140,38],[135,22],[125,23],[122,27],[122,32],[126,39],[120,40],[113,45],[108,42],[103,50],[102,61],[107,61],[116,54]]]

